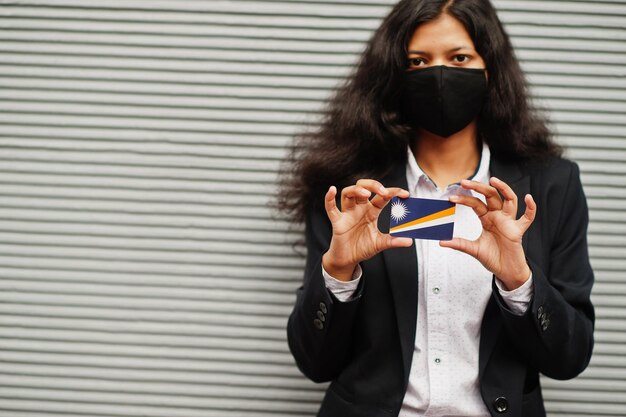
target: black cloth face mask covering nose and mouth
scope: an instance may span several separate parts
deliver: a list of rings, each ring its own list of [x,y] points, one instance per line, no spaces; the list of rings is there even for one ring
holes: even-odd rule
[[[462,130],[480,113],[487,95],[485,70],[439,65],[407,72],[403,92],[404,116],[447,138]]]

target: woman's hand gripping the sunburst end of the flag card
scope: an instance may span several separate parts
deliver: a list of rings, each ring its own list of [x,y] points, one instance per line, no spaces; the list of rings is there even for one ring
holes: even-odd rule
[[[370,197],[376,194],[370,200]],[[362,179],[341,192],[341,210],[335,197],[337,188],[326,193],[326,214],[333,226],[328,252],[322,257],[326,272],[342,281],[350,281],[357,264],[377,253],[395,247],[408,247],[413,239],[391,237],[378,230],[378,216],[394,197],[409,197],[401,188],[385,188],[375,180]]]

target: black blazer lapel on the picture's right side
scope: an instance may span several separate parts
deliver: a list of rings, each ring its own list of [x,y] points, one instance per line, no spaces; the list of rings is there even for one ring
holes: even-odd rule
[[[497,177],[507,183],[518,197],[517,217],[524,214],[526,205],[524,204],[524,196],[530,193],[530,177],[524,175],[520,165],[515,162],[504,162],[492,155],[489,164],[489,170],[492,176]],[[528,253],[528,234],[522,238],[522,247],[524,253]],[[480,353],[479,353],[479,378],[482,379],[485,367],[489,361],[489,357],[493,352],[502,321],[500,320],[500,312],[494,296],[492,296],[485,309],[483,322],[481,325]]]

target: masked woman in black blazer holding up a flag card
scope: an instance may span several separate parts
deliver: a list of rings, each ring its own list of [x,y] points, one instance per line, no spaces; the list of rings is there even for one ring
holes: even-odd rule
[[[489,1],[400,1],[300,139],[288,339],[319,415],[545,416],[539,373],[593,347],[587,205]],[[391,237],[394,196],[457,203],[455,237]]]

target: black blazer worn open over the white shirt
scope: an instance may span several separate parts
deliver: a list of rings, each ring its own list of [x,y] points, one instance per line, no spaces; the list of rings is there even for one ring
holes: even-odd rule
[[[587,204],[578,166],[564,159],[505,164],[492,156],[490,172],[517,194],[518,216],[525,194],[537,202],[537,216],[523,238],[535,288],[526,314],[516,316],[492,280],[481,327],[481,394],[494,417],[543,417],[539,372],[573,378],[586,368],[593,348]],[[381,180],[406,189],[405,166]],[[388,205],[379,217],[385,233],[389,210]],[[331,236],[323,209],[311,211],[304,282],[287,325],[289,347],[307,377],[332,381],[319,416],[397,416],[415,342],[415,246],[363,262],[354,299],[342,303],[326,289],[321,271]]]

